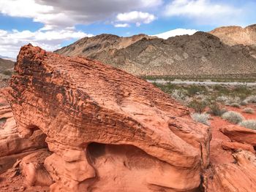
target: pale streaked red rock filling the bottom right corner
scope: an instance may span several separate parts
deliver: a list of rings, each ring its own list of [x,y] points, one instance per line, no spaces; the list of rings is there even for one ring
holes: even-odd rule
[[[206,192],[256,191],[255,154],[241,150],[233,157],[233,164],[219,164],[208,169],[204,180]]]

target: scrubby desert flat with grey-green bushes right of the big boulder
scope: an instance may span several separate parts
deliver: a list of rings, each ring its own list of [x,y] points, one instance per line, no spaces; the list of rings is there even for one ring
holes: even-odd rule
[[[255,129],[256,120],[246,120],[244,115],[253,115],[256,104],[256,88],[244,85],[186,85],[160,84],[154,85],[170,94],[173,99],[192,109],[193,120],[210,126],[211,115]]]

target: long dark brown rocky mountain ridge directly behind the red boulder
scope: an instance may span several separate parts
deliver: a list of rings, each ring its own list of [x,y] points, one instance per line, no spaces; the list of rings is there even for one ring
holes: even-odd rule
[[[102,34],[80,39],[56,53],[85,56],[140,76],[256,74],[256,58],[248,47],[225,45],[201,31],[168,39]]]

